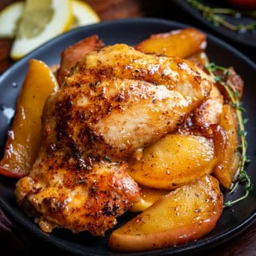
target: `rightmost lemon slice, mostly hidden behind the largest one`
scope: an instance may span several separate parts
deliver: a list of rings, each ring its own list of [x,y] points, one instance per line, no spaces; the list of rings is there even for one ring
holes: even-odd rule
[[[72,28],[100,22],[98,14],[84,1],[72,0],[74,20]]]

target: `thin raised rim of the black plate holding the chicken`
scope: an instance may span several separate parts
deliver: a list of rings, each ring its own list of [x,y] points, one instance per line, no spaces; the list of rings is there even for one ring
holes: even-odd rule
[[[23,57],[22,59],[20,59],[18,62],[14,63],[13,66],[10,66],[9,69],[7,69],[4,73],[2,73],[2,75],[0,76],[0,87],[1,87],[1,81],[4,80],[5,77],[7,77],[11,72],[13,72],[13,69],[17,69],[19,68],[19,66],[24,65],[24,62],[26,60],[31,59],[31,56],[33,56],[35,53],[37,53],[37,51],[40,51],[43,48],[47,48],[47,47],[51,47],[51,44],[56,43],[57,41],[61,41],[66,37],[70,37],[71,34],[74,33],[81,33],[81,31],[87,31],[90,28],[98,28],[98,27],[104,27],[104,26],[111,26],[111,25],[115,25],[116,23],[118,24],[127,24],[128,22],[130,23],[134,23],[134,22],[146,22],[146,23],[157,23],[157,24],[164,24],[164,25],[170,25],[170,26],[178,26],[181,28],[185,28],[185,27],[192,27],[191,25],[187,25],[181,22],[175,22],[175,21],[171,21],[171,20],[167,20],[167,19],[158,19],[158,18],[129,18],[129,19],[116,19],[116,20],[111,20],[111,21],[106,21],[106,22],[101,22],[95,25],[87,25],[81,28],[76,28],[72,31],[68,31],[65,34],[60,35],[59,37],[56,37],[52,40],[50,40],[49,42],[43,44],[43,46],[40,46],[39,48],[35,49],[34,51],[32,51],[31,53],[27,54],[25,57]],[[194,28],[196,28],[195,26],[193,26]],[[197,28],[198,29],[198,28]],[[199,29],[200,31],[202,31],[201,29]],[[228,43],[225,43],[224,41],[220,40],[219,38],[211,35],[210,33],[207,33],[204,31],[204,33],[207,34],[207,37],[209,37],[211,40],[215,41],[217,44],[219,44],[220,46],[225,47],[225,49],[228,49],[228,51],[232,51],[234,52],[234,54],[237,54],[238,57],[240,57],[241,59],[243,59],[244,61],[246,61],[249,66],[252,66],[254,69],[256,69],[256,65],[255,63],[250,60],[248,57],[246,57],[246,55],[244,55],[243,53],[241,53],[240,51],[238,51],[237,49],[235,49],[233,46],[228,45]],[[16,219],[20,219],[20,217],[18,216],[19,214],[14,214],[12,213],[11,210],[11,206],[7,205],[6,202],[4,202],[1,198],[0,198],[0,205],[1,207],[4,208],[5,211],[7,211],[7,213],[9,213],[12,216],[16,215]],[[170,254],[176,254],[176,253],[181,253],[181,252],[187,252],[188,250],[191,249],[197,249],[197,250],[204,250],[205,246],[208,246],[207,248],[211,247],[215,247],[217,245],[220,245],[222,243],[225,243],[227,240],[232,239],[233,237],[237,236],[238,234],[240,234],[241,231],[243,231],[245,228],[247,228],[249,225],[251,225],[256,219],[256,208],[255,208],[255,212],[252,213],[248,218],[246,218],[246,220],[242,223],[240,223],[240,225],[237,225],[236,228],[233,228],[231,230],[228,231],[223,231],[221,234],[216,235],[216,237],[209,237],[207,239],[203,239],[203,240],[199,240],[196,242],[192,242],[192,243],[188,243],[187,245],[183,245],[181,248],[178,248],[179,246],[176,247],[176,251],[175,252],[168,252],[170,249],[159,249],[159,250],[155,250],[155,251],[149,251],[149,252],[143,252],[143,253],[133,253],[132,255],[157,255],[157,253],[161,253],[161,255],[170,255]],[[33,222],[31,219],[29,219],[30,222]],[[21,224],[22,226],[24,226],[27,230],[30,230],[31,232],[33,232],[34,234],[37,234],[37,236],[43,238],[44,240],[46,240],[48,243],[51,243],[54,246],[59,247],[60,249],[64,249],[68,252],[74,252],[74,248],[69,248],[69,246],[63,246],[63,243],[60,243],[60,240],[63,240],[63,238],[60,238],[60,240],[57,241],[56,240],[52,240],[51,238],[49,239],[49,237],[46,236],[45,233],[43,232],[37,232],[34,231],[33,226],[31,223],[31,226],[28,227],[28,225],[25,225],[24,223],[22,223],[21,219],[19,220],[19,224]],[[54,237],[57,237],[56,235],[54,235]],[[69,242],[70,243],[70,242]],[[76,252],[78,254],[80,254],[81,252]],[[115,252],[111,252],[112,255],[119,255],[118,253],[116,254]],[[89,255],[99,255],[99,254],[89,254]]]

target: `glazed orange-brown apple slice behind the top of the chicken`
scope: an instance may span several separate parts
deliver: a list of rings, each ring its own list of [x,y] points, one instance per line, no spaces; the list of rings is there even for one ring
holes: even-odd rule
[[[167,56],[190,57],[206,48],[206,35],[195,28],[184,28],[164,34],[153,34],[135,46],[145,53],[166,54]]]

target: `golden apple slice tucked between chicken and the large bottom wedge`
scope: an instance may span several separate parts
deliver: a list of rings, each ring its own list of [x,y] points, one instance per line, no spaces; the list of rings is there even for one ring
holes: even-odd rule
[[[213,141],[201,136],[169,134],[132,160],[129,174],[146,187],[172,190],[212,172]]]

